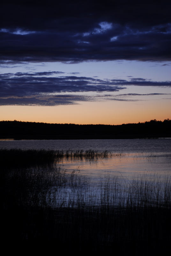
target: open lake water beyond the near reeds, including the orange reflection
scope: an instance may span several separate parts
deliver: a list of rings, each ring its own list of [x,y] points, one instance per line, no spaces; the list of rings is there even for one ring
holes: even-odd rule
[[[63,160],[61,168],[75,170],[99,180],[107,173],[132,179],[142,174],[171,174],[171,139],[125,140],[0,140],[0,148],[54,149],[54,150],[108,150],[120,156],[87,160]]]

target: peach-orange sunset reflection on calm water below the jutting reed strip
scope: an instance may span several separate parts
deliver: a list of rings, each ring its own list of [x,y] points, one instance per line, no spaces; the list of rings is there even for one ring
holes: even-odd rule
[[[62,169],[69,172],[79,167],[80,174],[99,181],[109,174],[111,177],[136,178],[143,174],[165,176],[171,174],[171,155],[168,154],[127,154],[121,157],[109,157],[99,160],[63,160]]]

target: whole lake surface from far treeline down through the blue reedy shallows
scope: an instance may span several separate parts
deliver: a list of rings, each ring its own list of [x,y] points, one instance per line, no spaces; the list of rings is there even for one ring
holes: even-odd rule
[[[63,158],[56,163],[67,179],[49,190],[54,207],[86,205],[150,205],[170,191],[171,139],[128,140],[0,140],[0,148],[53,150],[108,150],[113,156],[98,159]],[[63,176],[63,177],[64,177]],[[110,178],[110,179],[108,179]],[[166,185],[166,186],[165,186]],[[143,197],[142,197],[143,195]],[[170,192],[169,192],[170,195]]]

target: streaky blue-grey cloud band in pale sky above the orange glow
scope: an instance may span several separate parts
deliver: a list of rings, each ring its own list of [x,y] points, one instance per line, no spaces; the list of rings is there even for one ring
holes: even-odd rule
[[[98,79],[85,76],[58,76],[62,71],[35,73],[4,73],[0,75],[1,105],[61,105],[76,104],[78,101],[120,100],[135,101],[119,98],[118,96],[160,95],[165,93],[148,94],[119,94],[115,97],[104,92],[118,92],[127,86],[171,87],[171,81],[155,82],[143,78]],[[53,75],[53,76],[52,76]],[[54,76],[56,75],[56,76]],[[99,92],[101,95],[85,96],[87,92]],[[61,94],[61,93],[67,93]],[[81,94],[76,95],[75,93]],[[74,95],[73,95],[74,94]]]

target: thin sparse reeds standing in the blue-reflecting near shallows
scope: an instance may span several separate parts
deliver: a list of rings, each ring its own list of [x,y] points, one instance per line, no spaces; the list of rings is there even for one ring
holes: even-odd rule
[[[70,176],[71,175],[71,176]],[[53,207],[74,207],[99,211],[114,208],[171,207],[171,180],[141,176],[125,184],[125,180],[107,175],[98,184],[73,171],[64,186],[53,187]],[[51,204],[48,204],[49,206]]]

